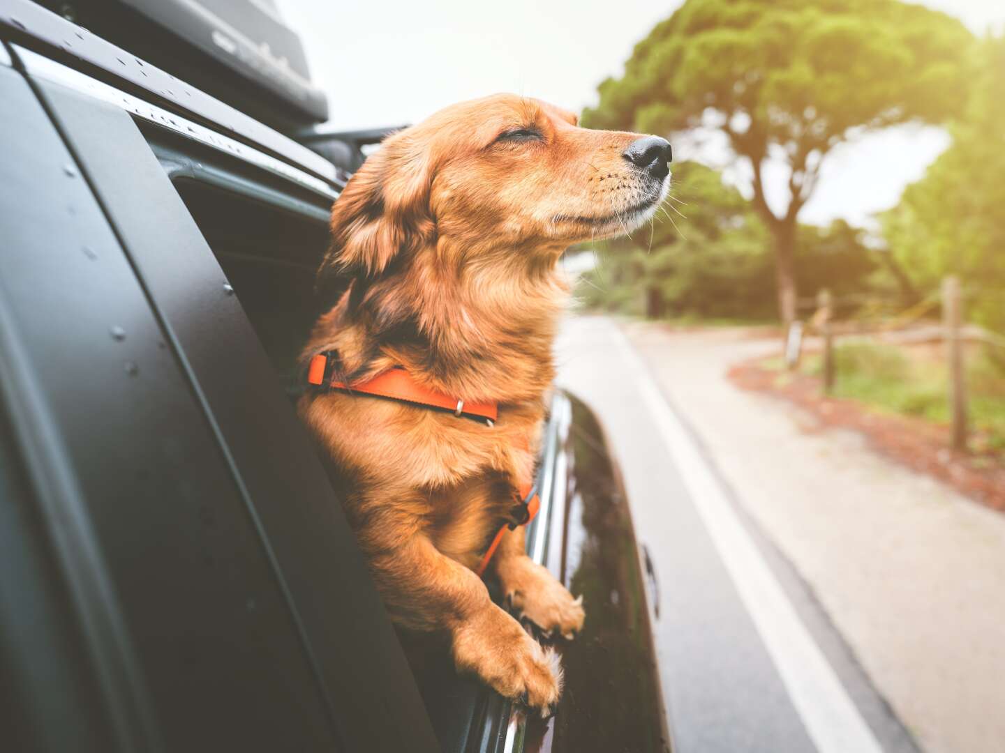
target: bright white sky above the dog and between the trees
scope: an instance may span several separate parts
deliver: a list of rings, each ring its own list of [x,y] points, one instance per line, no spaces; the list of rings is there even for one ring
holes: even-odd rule
[[[338,129],[415,122],[460,99],[515,91],[579,110],[620,73],[635,42],[678,0],[278,0],[301,35]],[[924,0],[971,29],[1005,25],[1005,0]],[[896,204],[949,144],[906,127],[835,150],[803,222],[855,224]],[[687,159],[694,154],[675,150]],[[716,162],[716,155],[707,154]],[[775,179],[781,195],[784,178]],[[686,200],[686,186],[677,187]],[[769,198],[771,198],[769,196]],[[776,200],[777,201],[777,200]]]

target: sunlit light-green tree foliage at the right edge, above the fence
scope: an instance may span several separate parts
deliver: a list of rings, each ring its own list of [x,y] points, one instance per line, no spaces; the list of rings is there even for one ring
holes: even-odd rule
[[[1005,331],[1005,36],[981,41],[972,70],[953,145],[881,220],[915,287],[935,292],[945,275],[959,275],[971,316]]]

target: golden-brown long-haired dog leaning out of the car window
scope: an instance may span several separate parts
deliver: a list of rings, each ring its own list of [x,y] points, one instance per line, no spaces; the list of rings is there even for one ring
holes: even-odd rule
[[[449,640],[459,671],[543,712],[555,655],[489,599],[472,571],[534,473],[570,244],[628,232],[666,195],[669,145],[588,131],[545,102],[500,94],[387,139],[336,202],[320,271],[350,287],[305,362],[337,353],[342,382],[403,366],[418,384],[495,402],[493,426],[391,400],[315,391],[300,414],[392,618]],[[583,625],[573,598],[508,532],[490,563],[515,609],[547,634]]]

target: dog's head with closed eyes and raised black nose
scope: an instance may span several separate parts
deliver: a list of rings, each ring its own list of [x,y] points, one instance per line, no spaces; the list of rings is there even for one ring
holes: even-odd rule
[[[335,204],[323,277],[378,276],[423,247],[446,263],[554,261],[572,243],[630,232],[666,196],[670,145],[576,122],[496,94],[388,138]]]

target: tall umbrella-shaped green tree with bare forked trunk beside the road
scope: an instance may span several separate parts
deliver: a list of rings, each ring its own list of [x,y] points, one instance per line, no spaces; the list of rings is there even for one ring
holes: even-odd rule
[[[600,84],[600,102],[583,120],[724,134],[749,169],[754,208],[772,236],[788,324],[797,220],[824,157],[855,134],[957,111],[971,42],[958,21],[896,0],[686,0],[635,46],[623,76]],[[769,158],[789,172],[779,214],[765,192]]]

